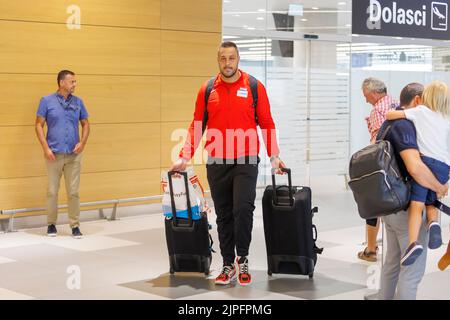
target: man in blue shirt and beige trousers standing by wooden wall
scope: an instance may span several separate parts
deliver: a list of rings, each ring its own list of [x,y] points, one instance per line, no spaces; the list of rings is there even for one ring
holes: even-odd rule
[[[81,238],[80,232],[80,172],[81,158],[89,136],[88,113],[83,101],[72,95],[77,81],[75,73],[58,73],[58,91],[41,99],[36,117],[36,135],[44,150],[48,171],[47,235],[56,236],[58,216],[58,190],[62,174],[66,183],[72,236]],[[81,139],[78,124],[81,123]],[[47,123],[47,137],[44,125]]]

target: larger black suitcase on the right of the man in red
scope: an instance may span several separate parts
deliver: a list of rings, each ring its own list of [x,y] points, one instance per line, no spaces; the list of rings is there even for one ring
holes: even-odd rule
[[[311,189],[292,186],[291,170],[288,186],[277,186],[272,173],[272,186],[263,195],[263,222],[267,249],[267,273],[301,274],[313,277],[317,254],[317,229],[312,217]],[[314,232],[313,232],[314,230]]]

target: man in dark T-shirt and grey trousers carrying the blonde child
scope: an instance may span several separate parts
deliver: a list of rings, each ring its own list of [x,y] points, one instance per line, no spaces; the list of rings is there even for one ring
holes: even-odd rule
[[[401,108],[408,109],[420,104],[422,92],[421,84],[408,84],[400,94]],[[377,139],[381,138],[388,127],[389,131],[385,140],[389,141],[394,149],[402,176],[406,179],[412,177],[438,195],[445,195],[448,192],[448,185],[440,184],[420,158],[414,124],[406,119],[385,121]],[[422,224],[419,234],[419,243],[425,248],[424,254],[417,259],[415,264],[402,267],[400,260],[409,244],[408,213],[400,211],[382,219],[386,227],[386,258],[381,272],[380,291],[375,296],[366,296],[366,299],[415,300],[418,285],[425,274],[428,243],[427,224]]]

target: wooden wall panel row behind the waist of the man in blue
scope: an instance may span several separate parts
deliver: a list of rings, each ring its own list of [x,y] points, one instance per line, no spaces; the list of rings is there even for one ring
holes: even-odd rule
[[[0,178],[47,174],[33,126],[0,127],[0,136]],[[160,124],[92,125],[82,165],[83,172],[159,168]]]

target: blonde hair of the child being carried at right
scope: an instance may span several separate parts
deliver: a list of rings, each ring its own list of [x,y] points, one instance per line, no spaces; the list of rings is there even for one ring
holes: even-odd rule
[[[425,87],[422,103],[443,116],[450,115],[450,90],[445,82],[433,81]]]

